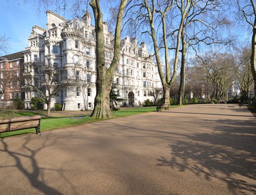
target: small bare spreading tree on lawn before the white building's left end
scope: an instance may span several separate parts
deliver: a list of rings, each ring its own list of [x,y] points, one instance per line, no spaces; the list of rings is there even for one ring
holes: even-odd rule
[[[25,91],[34,91],[47,104],[47,116],[51,115],[51,101],[59,95],[60,90],[78,85],[74,78],[67,78],[66,70],[41,62],[26,64],[21,81],[24,81]]]

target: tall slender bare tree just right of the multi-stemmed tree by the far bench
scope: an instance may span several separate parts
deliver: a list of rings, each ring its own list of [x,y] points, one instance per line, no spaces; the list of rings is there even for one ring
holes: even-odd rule
[[[175,0],[183,20],[181,31],[181,77],[179,87],[178,104],[184,104],[185,66],[188,52],[197,54],[201,45],[227,44],[231,40],[223,39],[219,30],[229,25],[229,21],[223,15],[226,2],[219,0]],[[188,7],[186,9],[186,7]],[[175,34],[171,34],[174,36]]]

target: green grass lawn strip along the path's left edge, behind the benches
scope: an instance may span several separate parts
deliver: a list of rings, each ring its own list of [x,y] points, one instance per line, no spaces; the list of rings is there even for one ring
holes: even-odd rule
[[[178,106],[171,106],[170,108],[176,108],[176,107]],[[112,113],[114,115],[113,118],[118,118],[118,117],[130,116],[135,114],[142,114],[145,112],[153,112],[155,110],[156,110],[156,107],[127,108],[127,109],[120,109],[118,111],[113,111]],[[32,116],[32,115],[38,115],[38,114],[33,112],[17,112],[15,115],[16,116]],[[89,116],[85,116],[85,117],[68,116],[63,118],[46,117],[41,119],[40,130],[42,132],[42,131],[51,130],[54,128],[68,127],[72,125],[95,122],[95,121],[102,121],[102,119],[92,119]],[[30,128],[30,129],[24,129],[19,131],[10,131],[10,132],[0,133],[0,138],[19,135],[19,134],[27,134],[27,133],[35,133],[35,129]]]

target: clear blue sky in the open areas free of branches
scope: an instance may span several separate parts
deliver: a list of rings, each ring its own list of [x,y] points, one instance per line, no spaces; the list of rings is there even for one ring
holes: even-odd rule
[[[24,47],[28,47],[27,38],[34,25],[46,27],[45,10],[38,12],[37,7],[33,3],[24,4],[23,0],[0,0],[0,35],[5,34],[9,38],[7,54],[19,52]],[[102,7],[104,9],[106,5]],[[64,17],[68,19],[67,14]],[[232,31],[238,35],[238,39],[246,41],[247,38],[248,41],[248,33],[244,27],[237,29],[236,26]]]

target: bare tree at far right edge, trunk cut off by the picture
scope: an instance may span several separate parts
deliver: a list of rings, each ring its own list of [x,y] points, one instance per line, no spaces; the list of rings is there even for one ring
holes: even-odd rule
[[[254,98],[256,101],[256,4],[254,0],[236,0],[236,2],[240,19],[246,21],[250,32],[252,32],[250,67],[254,80]]]

